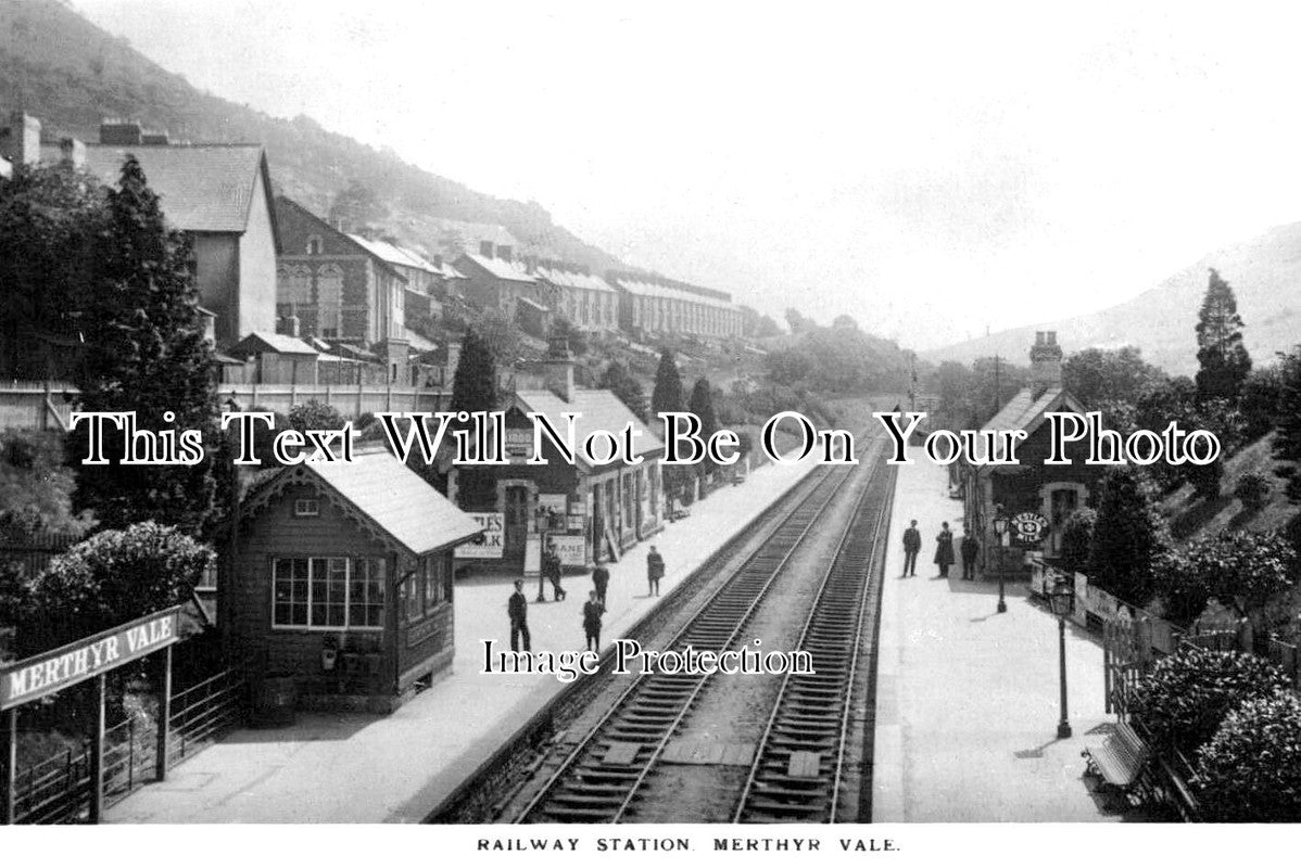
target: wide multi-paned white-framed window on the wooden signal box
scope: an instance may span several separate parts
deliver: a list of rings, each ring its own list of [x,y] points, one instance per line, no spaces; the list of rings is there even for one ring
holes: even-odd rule
[[[277,557],[272,564],[272,626],[384,626],[385,561],[367,557]]]

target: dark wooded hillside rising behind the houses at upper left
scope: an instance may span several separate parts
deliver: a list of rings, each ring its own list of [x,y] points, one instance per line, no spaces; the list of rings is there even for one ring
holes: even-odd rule
[[[277,192],[325,213],[353,179],[389,208],[402,240],[428,247],[437,218],[500,223],[539,252],[597,270],[626,268],[557,226],[537,203],[488,196],[323,129],[275,118],[199,91],[57,0],[0,0],[0,112],[26,109],[46,131],[98,140],[103,117],[129,117],[193,142],[260,142]]]

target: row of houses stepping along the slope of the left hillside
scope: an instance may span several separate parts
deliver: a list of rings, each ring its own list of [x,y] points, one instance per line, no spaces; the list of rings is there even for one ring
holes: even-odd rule
[[[431,364],[448,361],[448,348],[431,335],[449,299],[498,311],[536,338],[561,317],[585,331],[623,331],[641,340],[722,342],[744,330],[742,309],[727,292],[516,256],[518,242],[501,227],[467,226],[466,233],[487,238],[458,234],[461,249],[446,256],[345,231],[275,196],[259,144],[176,143],[126,120],[105,120],[99,142],[88,144],[47,135],[23,112],[8,120],[0,129],[0,177],[12,174],[12,164],[65,162],[112,182],[127,155],[139,160],[168,220],[194,242],[200,304],[224,377],[233,382],[271,370],[304,372],[303,356],[315,356],[336,370],[343,360],[353,363],[350,382],[420,386]],[[284,344],[277,334],[295,342],[291,364],[247,355],[250,347]],[[373,370],[363,373],[366,366]]]

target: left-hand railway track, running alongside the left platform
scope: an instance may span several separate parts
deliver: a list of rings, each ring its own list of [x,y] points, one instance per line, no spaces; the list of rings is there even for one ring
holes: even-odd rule
[[[731,647],[855,469],[831,469],[664,647],[679,651],[688,645],[697,651]],[[634,678],[515,821],[621,821],[709,680],[705,674],[660,670]]]

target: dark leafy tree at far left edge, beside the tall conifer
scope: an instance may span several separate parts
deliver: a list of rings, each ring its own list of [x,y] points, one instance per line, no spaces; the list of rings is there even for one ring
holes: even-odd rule
[[[0,374],[64,376],[96,272],[105,188],[66,166],[14,166],[0,183]],[[72,356],[72,359],[69,359]]]

